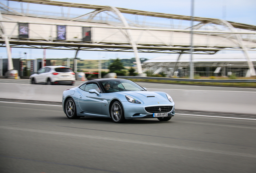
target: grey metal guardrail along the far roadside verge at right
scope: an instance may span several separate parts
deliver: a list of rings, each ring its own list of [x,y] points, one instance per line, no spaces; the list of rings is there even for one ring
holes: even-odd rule
[[[133,79],[148,79],[148,80],[173,80],[173,81],[184,81],[184,82],[218,82],[218,83],[256,82],[256,79],[215,80],[215,79],[183,79],[183,78],[164,78],[164,77],[140,77],[140,76],[117,76],[117,78],[133,78]]]

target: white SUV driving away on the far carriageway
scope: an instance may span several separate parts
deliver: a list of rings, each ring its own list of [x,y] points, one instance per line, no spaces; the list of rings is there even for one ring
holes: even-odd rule
[[[75,73],[67,66],[44,66],[29,79],[31,84],[69,84],[73,85],[76,78]]]

